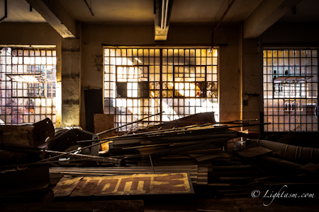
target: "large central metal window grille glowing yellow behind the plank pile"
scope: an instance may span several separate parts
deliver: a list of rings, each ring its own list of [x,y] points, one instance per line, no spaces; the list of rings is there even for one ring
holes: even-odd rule
[[[218,120],[218,49],[105,48],[104,71],[104,112],[116,126],[163,111],[133,127],[199,112]]]

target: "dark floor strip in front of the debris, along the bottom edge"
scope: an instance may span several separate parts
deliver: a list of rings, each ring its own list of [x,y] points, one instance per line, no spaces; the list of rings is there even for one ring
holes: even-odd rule
[[[143,199],[143,200],[140,200]],[[266,206],[265,206],[266,205]],[[252,212],[252,211],[319,211],[317,199],[274,199],[262,198],[220,198],[213,196],[97,196],[65,201],[36,203],[3,203],[1,212],[39,212],[39,211],[113,211],[113,212]]]

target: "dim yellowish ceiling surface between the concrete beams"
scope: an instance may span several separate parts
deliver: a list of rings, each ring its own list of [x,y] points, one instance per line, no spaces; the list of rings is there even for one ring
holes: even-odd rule
[[[0,0],[0,16],[4,14],[4,1]],[[59,0],[51,0],[59,1]],[[61,1],[75,20],[87,23],[154,23],[153,0],[84,0]],[[228,8],[230,0],[174,0],[171,23],[215,23]],[[244,20],[260,0],[237,0],[225,16],[224,22]],[[8,18],[4,22],[46,22],[26,0],[8,1]]]

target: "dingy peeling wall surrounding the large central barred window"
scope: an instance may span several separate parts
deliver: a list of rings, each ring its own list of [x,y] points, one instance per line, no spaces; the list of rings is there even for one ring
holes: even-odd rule
[[[154,25],[82,24],[82,97],[86,88],[103,88],[103,45],[211,45],[213,25],[170,25],[166,41],[154,40]],[[240,119],[239,27],[220,26],[220,121]],[[83,99],[83,98],[82,98]],[[84,100],[81,126],[85,128]]]

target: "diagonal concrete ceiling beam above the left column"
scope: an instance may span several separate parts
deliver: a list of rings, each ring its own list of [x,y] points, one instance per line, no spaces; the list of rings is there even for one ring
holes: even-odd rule
[[[63,38],[77,37],[77,24],[60,1],[26,0]]]

